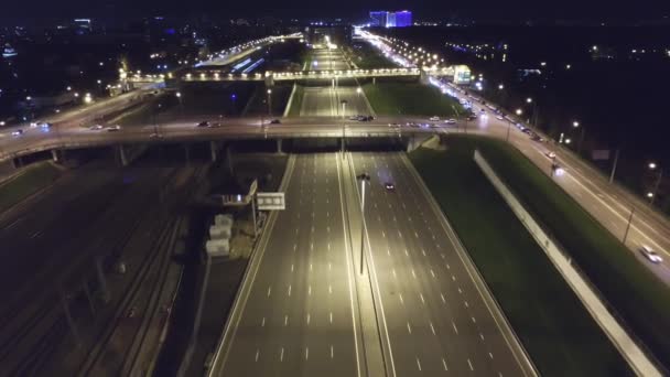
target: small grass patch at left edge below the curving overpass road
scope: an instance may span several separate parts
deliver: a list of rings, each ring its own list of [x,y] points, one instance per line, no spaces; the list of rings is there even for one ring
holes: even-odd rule
[[[48,162],[25,168],[26,171],[0,184],[0,213],[11,208],[61,176],[61,170]]]

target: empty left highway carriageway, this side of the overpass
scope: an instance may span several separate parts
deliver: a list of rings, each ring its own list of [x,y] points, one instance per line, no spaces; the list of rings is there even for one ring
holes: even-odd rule
[[[356,376],[352,265],[334,153],[299,155],[220,376]]]

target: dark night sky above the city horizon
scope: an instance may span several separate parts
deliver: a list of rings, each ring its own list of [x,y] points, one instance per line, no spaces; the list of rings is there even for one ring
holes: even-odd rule
[[[129,19],[133,15],[364,18],[374,9],[410,9],[418,18],[449,19],[616,19],[670,17],[667,0],[29,0],[3,1],[0,21],[31,22],[50,18]]]

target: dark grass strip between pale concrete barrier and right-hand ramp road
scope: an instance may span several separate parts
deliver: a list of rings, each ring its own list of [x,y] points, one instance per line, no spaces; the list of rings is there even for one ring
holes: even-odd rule
[[[478,144],[496,173],[561,243],[628,327],[670,367],[670,289],[521,152],[498,140]]]

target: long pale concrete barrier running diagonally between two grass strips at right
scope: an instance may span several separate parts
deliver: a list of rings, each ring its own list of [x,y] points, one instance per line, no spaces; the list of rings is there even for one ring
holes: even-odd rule
[[[512,192],[498,177],[493,168],[486,162],[479,151],[475,151],[474,160],[482,172],[502,196],[511,211],[517,215],[526,229],[544,250],[547,257],[559,270],[565,282],[577,295],[584,308],[588,311],[595,322],[603,328],[609,341],[619,351],[624,359],[630,365],[638,376],[661,376],[659,369],[651,363],[633,337],[607,311],[605,303],[591,287],[591,283],[572,266],[570,258],[561,246],[556,245],[544,229],[533,219],[530,213],[517,200]]]

